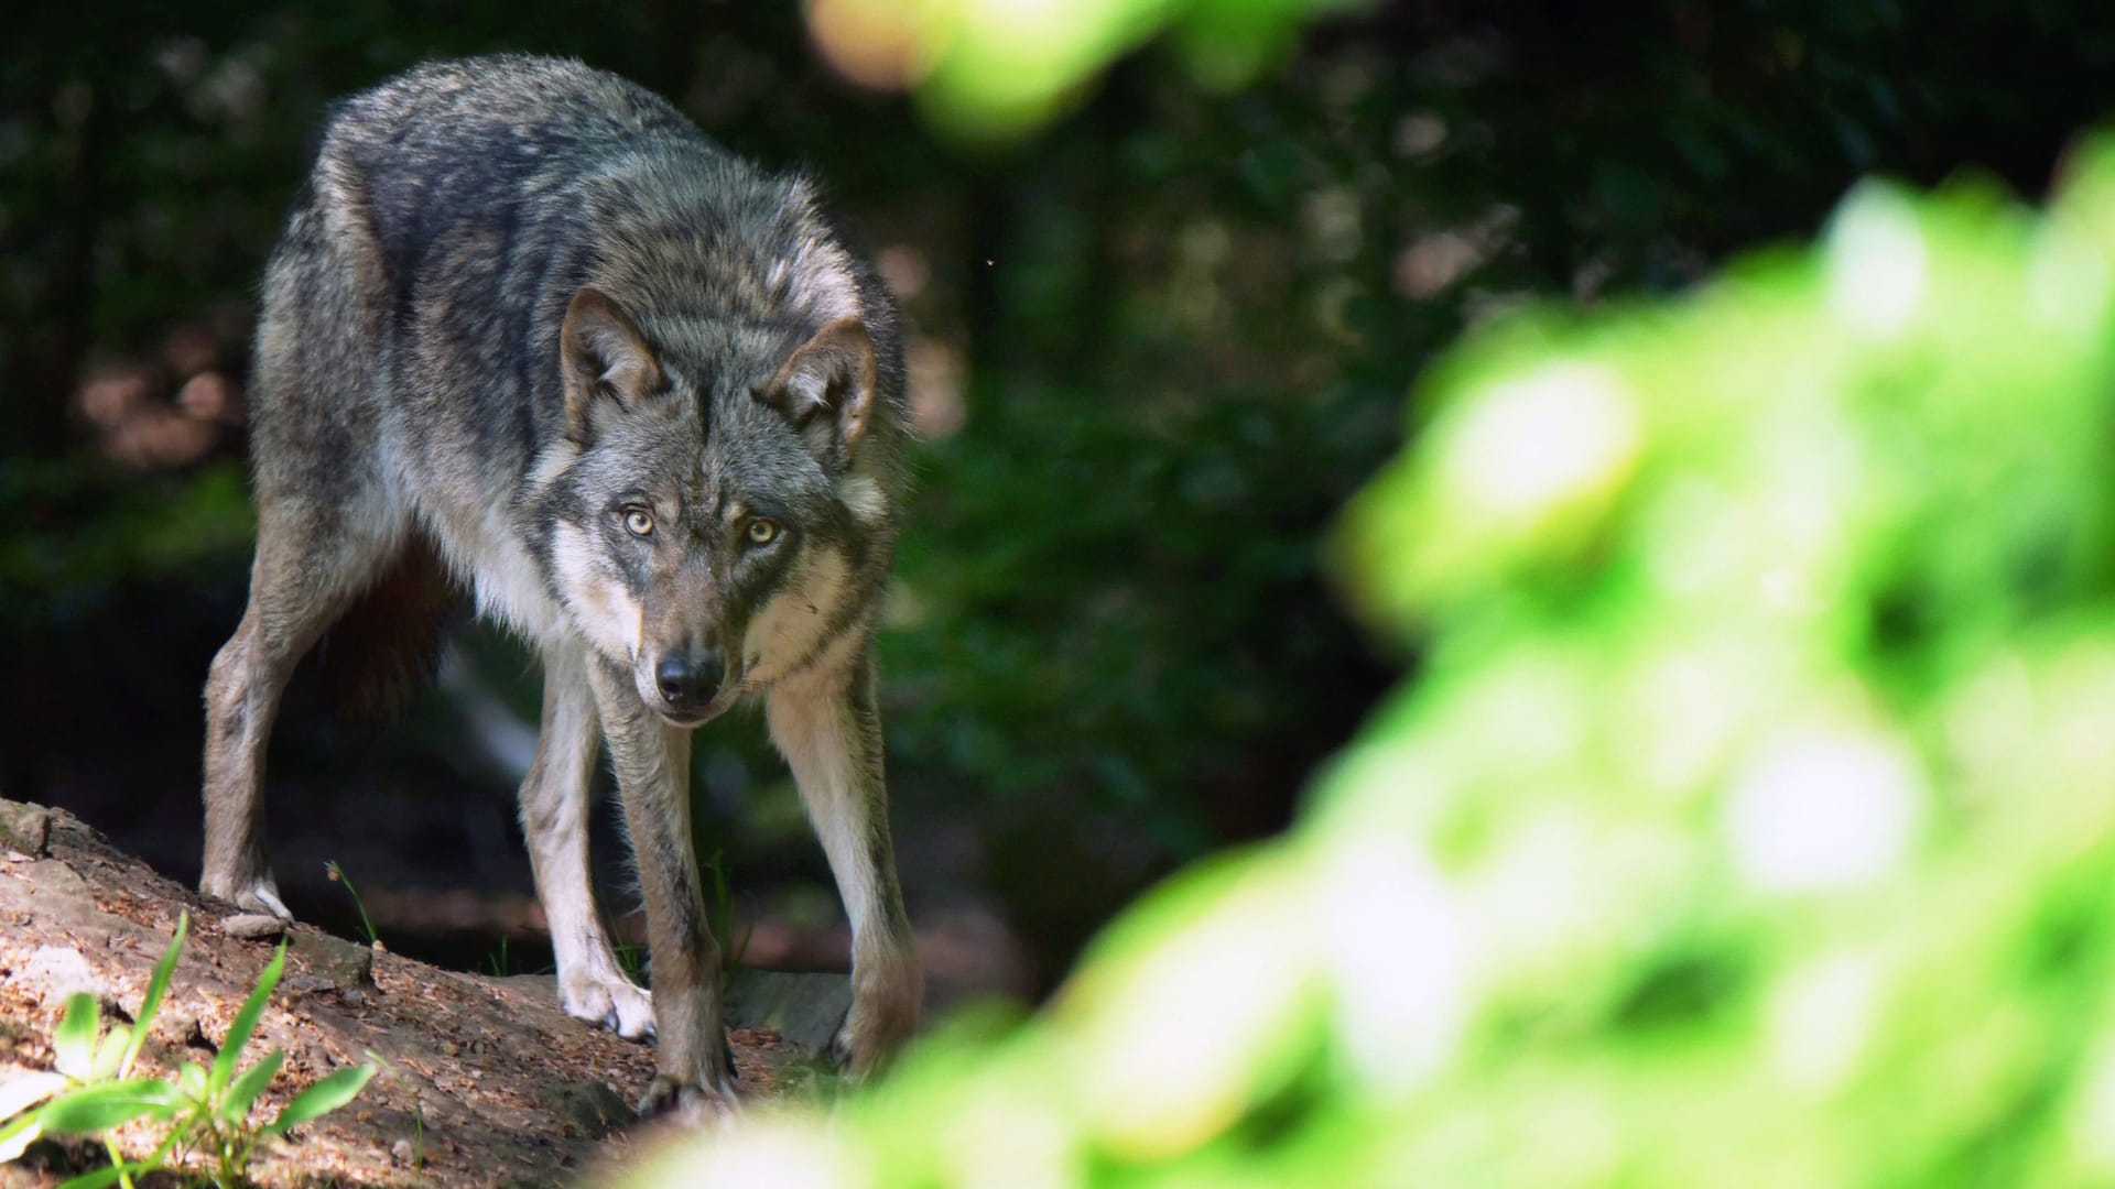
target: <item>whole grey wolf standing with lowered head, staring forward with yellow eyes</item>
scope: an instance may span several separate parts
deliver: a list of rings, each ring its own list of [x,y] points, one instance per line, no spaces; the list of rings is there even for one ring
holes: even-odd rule
[[[736,705],[761,702],[829,857],[852,925],[835,1047],[871,1071],[922,996],[873,675],[905,449],[897,309],[806,176],[577,61],[442,61],[343,99],[264,273],[256,559],[205,683],[201,891],[290,916],[262,821],[288,677],[332,628],[338,658],[417,673],[467,592],[541,658],[520,819],[558,996],[654,1037],[643,1111],[734,1109],[687,789],[692,730]],[[651,994],[588,878],[605,740]]]

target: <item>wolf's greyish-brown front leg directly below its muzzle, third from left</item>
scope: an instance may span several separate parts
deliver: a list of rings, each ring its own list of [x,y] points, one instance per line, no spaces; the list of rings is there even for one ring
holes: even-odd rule
[[[639,1111],[702,1123],[734,1111],[736,1102],[719,1016],[719,944],[704,920],[698,857],[689,844],[689,730],[647,711],[626,673],[603,660],[592,660],[588,671],[639,859],[654,954],[658,1075]]]

